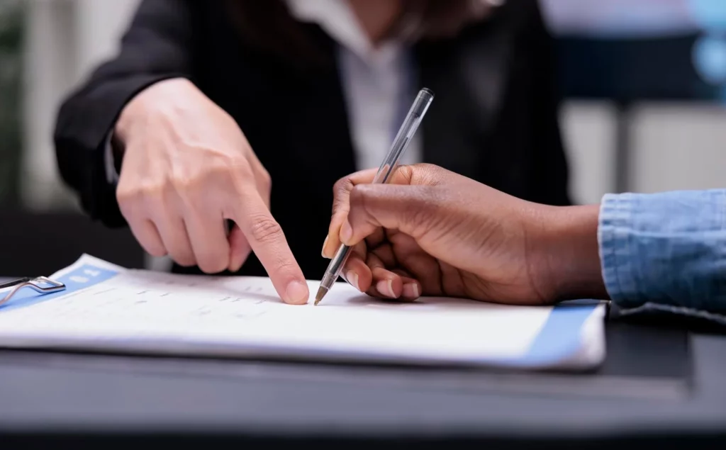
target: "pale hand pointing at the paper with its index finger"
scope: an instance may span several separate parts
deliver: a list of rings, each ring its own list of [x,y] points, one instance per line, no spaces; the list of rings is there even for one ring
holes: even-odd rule
[[[254,251],[283,300],[308,300],[269,210],[269,174],[237,123],[196,86],[175,78],[145,89],[124,108],[115,139],[118,205],[144,250],[210,274],[239,270]]]

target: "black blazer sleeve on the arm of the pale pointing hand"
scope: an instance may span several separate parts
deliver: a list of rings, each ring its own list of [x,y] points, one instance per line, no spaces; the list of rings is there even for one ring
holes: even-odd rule
[[[86,213],[107,226],[124,226],[115,185],[106,178],[104,152],[124,105],[166,78],[191,78],[194,0],[143,0],[112,60],[100,65],[62,103],[54,144],[62,179]]]

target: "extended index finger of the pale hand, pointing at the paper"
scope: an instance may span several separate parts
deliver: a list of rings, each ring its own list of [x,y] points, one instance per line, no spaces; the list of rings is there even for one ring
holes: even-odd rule
[[[264,266],[275,290],[285,303],[303,304],[310,292],[293,256],[282,227],[253,187],[240,189],[234,206],[235,224],[240,227],[253,252]]]

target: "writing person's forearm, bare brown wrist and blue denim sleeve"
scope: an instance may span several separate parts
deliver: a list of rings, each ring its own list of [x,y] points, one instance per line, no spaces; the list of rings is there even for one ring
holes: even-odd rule
[[[605,195],[543,216],[535,261],[551,300],[726,311],[726,189]]]

